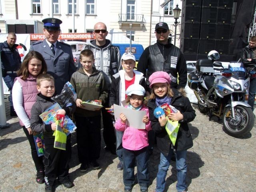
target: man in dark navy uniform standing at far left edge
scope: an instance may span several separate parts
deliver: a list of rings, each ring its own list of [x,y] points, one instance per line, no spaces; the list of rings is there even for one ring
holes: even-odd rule
[[[16,71],[20,69],[21,64],[20,54],[17,49],[18,44],[15,44],[16,40],[16,34],[10,32],[8,33],[7,40],[0,43],[2,76],[10,90],[10,116],[17,116],[12,103],[12,87],[14,79],[17,77]]]

